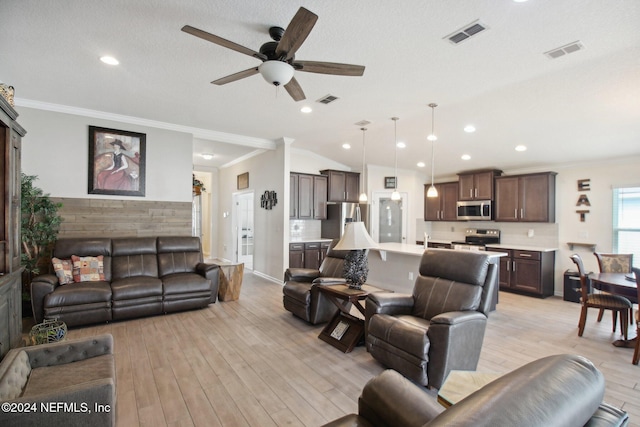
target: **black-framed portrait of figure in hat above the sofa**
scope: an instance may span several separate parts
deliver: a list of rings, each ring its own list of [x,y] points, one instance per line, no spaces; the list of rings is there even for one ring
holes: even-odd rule
[[[144,133],[89,126],[89,194],[144,197]]]

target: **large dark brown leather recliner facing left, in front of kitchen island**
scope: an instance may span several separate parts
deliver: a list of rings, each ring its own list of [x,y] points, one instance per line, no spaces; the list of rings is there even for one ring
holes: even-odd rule
[[[497,270],[486,252],[425,251],[413,294],[367,298],[367,350],[383,365],[436,389],[452,369],[475,370]]]

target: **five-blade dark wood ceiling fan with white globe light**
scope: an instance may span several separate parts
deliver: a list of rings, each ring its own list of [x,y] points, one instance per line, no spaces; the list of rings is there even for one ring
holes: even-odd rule
[[[263,44],[259,52],[190,25],[182,27],[182,31],[262,61],[257,67],[219,78],[211,83],[224,85],[260,73],[268,83],[274,86],[283,85],[294,101],[302,101],[305,95],[293,76],[294,71],[340,76],[361,76],[364,73],[362,65],[295,60],[296,51],[302,46],[317,20],[318,15],[301,7],[286,30],[281,27],[269,28],[269,35],[274,41]]]

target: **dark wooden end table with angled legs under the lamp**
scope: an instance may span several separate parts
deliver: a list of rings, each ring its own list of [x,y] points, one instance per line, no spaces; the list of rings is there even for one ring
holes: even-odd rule
[[[324,285],[318,289],[338,307],[338,312],[320,332],[318,338],[344,353],[349,353],[364,339],[364,319],[349,312],[349,303],[364,316],[364,306],[360,301],[364,301],[371,293],[389,291],[371,285],[363,285],[362,289],[351,289],[348,285]]]

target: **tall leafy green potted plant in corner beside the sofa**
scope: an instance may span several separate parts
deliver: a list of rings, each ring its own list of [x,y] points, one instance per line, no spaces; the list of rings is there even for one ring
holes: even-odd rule
[[[23,315],[25,309],[31,310],[31,295],[29,287],[31,278],[40,274],[40,269],[50,262],[51,248],[60,229],[62,217],[58,214],[61,203],[54,203],[41,188],[33,185],[37,175],[21,174],[21,231],[22,253],[21,265],[24,267],[22,276]]]

